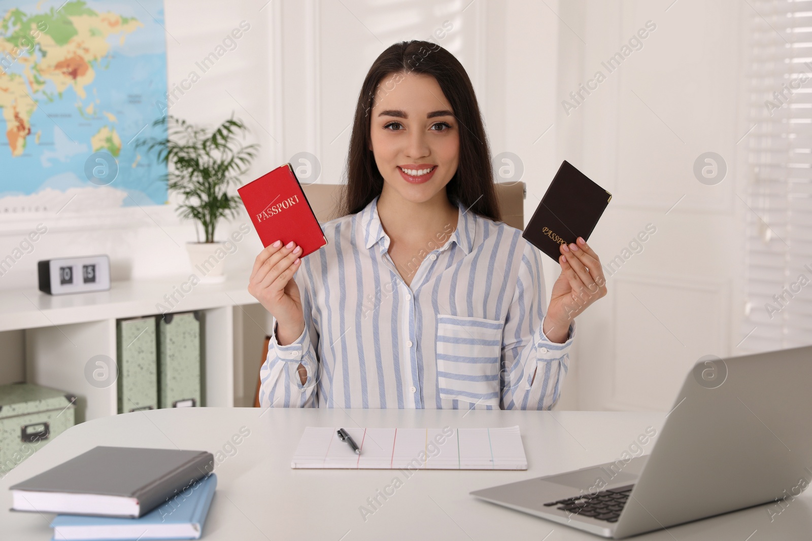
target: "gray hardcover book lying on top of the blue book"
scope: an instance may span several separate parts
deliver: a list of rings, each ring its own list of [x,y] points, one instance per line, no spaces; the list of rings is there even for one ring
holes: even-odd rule
[[[11,509],[140,517],[212,470],[208,451],[97,446],[9,487]]]

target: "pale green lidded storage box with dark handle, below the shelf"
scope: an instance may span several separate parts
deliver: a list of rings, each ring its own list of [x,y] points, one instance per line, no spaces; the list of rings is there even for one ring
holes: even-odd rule
[[[0,385],[0,478],[74,425],[76,396],[29,383]]]

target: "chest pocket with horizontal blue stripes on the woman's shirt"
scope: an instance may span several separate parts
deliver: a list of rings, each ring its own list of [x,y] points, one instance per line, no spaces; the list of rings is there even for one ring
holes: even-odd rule
[[[499,320],[437,317],[437,379],[441,398],[499,406],[502,328]]]

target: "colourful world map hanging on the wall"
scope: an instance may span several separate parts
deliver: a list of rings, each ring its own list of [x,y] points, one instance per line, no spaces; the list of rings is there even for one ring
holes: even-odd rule
[[[166,165],[136,146],[166,137],[163,17],[162,0],[0,0],[0,215],[166,203]],[[88,174],[97,152],[111,182]]]

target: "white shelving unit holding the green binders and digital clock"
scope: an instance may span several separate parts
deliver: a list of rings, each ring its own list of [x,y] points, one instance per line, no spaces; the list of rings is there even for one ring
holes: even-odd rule
[[[244,278],[184,292],[187,279],[119,281],[109,291],[62,296],[0,291],[0,383],[24,379],[76,394],[77,423],[117,414],[116,384],[93,386],[85,365],[100,354],[116,359],[116,320],[159,315],[160,304],[202,311],[205,405],[252,406],[270,314]]]

